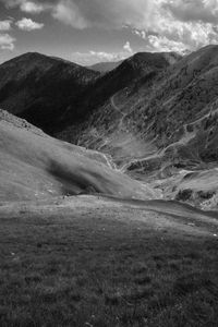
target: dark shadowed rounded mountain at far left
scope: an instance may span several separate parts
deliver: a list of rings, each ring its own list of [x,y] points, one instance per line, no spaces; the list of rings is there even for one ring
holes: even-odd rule
[[[0,65],[0,107],[49,131],[65,111],[80,116],[77,97],[98,75],[59,58],[25,53]]]

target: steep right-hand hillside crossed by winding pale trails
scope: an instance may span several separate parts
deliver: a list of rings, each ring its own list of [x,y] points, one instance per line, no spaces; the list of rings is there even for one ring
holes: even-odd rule
[[[172,153],[174,156],[174,152],[179,157],[192,156],[193,162],[216,160],[218,47],[201,49],[161,70],[152,70],[150,65],[143,64],[144,71],[147,70],[143,76],[137,71],[140,65],[142,72],[142,59],[138,58],[136,64],[134,62],[137,81],[134,80],[134,83],[130,83],[128,88],[123,89],[122,81],[117,78],[120,89],[116,92],[114,83],[114,94],[108,94],[109,100],[77,128],[77,142],[86,143],[86,131],[89,129],[88,146],[94,144],[96,148],[106,145],[107,150],[108,144],[110,152],[111,148],[118,147],[119,153],[122,153],[124,140],[137,141],[138,155],[131,156],[136,159],[161,150],[161,155],[165,153],[168,157]],[[108,75],[118,74],[121,70],[123,81],[128,77],[132,81],[133,74],[124,77],[128,64],[133,66],[131,60],[128,60]],[[157,64],[160,66],[162,61],[155,61],[156,68]],[[108,75],[105,78],[108,78]],[[61,135],[76,141],[71,129]],[[199,138],[202,142],[198,142]],[[116,144],[119,140],[120,145]],[[191,154],[187,152],[184,156],[187,144]],[[192,148],[195,149],[194,153]],[[137,149],[134,146],[134,150]],[[116,159],[119,161],[119,156]],[[180,161],[180,158],[178,160]]]

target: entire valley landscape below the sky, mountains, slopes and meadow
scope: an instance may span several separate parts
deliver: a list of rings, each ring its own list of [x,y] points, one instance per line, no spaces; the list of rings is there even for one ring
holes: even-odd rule
[[[216,326],[218,46],[0,65],[0,325]]]

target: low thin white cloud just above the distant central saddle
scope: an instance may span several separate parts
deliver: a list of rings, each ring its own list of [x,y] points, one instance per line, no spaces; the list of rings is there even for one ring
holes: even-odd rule
[[[120,61],[133,55],[133,49],[128,41],[120,52],[105,52],[105,51],[89,51],[89,52],[74,52],[72,61],[82,65],[92,65],[98,62]]]

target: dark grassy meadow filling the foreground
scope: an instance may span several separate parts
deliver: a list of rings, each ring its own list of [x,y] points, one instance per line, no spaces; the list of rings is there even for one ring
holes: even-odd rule
[[[1,327],[217,326],[216,239],[19,216],[0,221]]]

